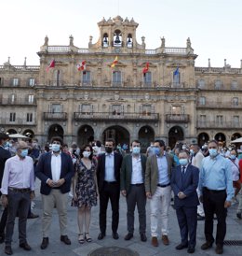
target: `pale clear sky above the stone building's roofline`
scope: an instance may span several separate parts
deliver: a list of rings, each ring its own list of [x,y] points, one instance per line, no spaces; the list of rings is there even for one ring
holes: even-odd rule
[[[0,64],[39,64],[36,54],[48,36],[49,45],[87,48],[99,39],[98,22],[104,17],[133,18],[139,23],[138,43],[146,49],[186,47],[190,37],[198,57],[195,66],[222,67],[224,59],[240,67],[242,59],[241,0],[0,0]]]

